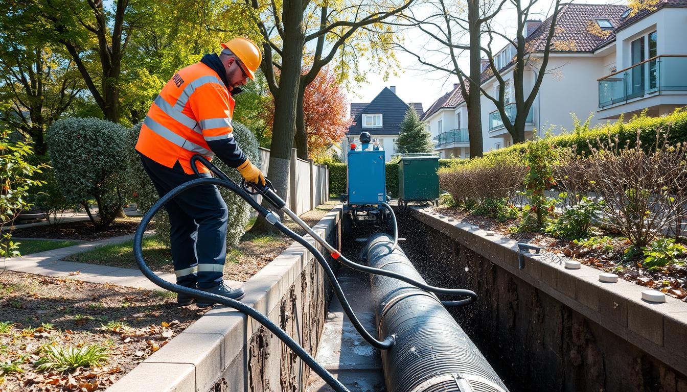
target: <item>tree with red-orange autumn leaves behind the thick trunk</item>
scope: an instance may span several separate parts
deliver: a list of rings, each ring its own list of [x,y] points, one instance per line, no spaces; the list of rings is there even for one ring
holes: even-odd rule
[[[303,73],[307,73],[307,69]],[[271,102],[273,107],[274,103]],[[274,111],[267,111],[272,124]],[[346,135],[353,120],[348,115],[348,101],[333,71],[323,68],[305,88],[303,119],[308,137],[308,157],[318,157]],[[271,128],[271,126],[270,126]]]

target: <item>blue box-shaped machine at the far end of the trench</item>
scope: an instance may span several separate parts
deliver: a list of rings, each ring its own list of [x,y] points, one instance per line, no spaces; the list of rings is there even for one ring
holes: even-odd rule
[[[347,152],[348,183],[342,195],[343,225],[387,222],[387,210],[381,203],[389,200],[386,193],[385,151],[370,134],[363,132],[359,143],[353,143]]]

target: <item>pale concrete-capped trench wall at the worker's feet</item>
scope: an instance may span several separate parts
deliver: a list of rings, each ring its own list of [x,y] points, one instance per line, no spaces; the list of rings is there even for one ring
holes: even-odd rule
[[[314,227],[337,249],[340,214],[341,208],[335,207]],[[322,250],[322,246],[317,248]],[[315,356],[331,288],[311,253],[293,244],[243,288],[244,303],[269,315]],[[296,392],[304,391],[309,372],[284,343],[254,319],[215,306],[108,391]]]

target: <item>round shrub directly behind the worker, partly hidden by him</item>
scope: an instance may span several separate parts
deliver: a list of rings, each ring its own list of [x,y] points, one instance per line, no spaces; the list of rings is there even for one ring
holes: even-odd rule
[[[258,139],[251,130],[239,122],[232,122],[234,126],[234,138],[241,150],[245,152],[251,162],[260,167],[262,158],[260,157],[260,147]],[[134,192],[135,200],[137,200],[138,208],[144,214],[150,207],[157,202],[159,195],[150,181],[148,174],[146,174],[139,155],[135,152],[134,146],[138,140],[138,135],[141,130],[141,124],[133,126],[131,132],[131,154],[129,157],[129,176],[131,178],[131,186]],[[212,160],[220,170],[225,172],[229,178],[235,183],[240,183],[243,177],[238,173],[238,170],[230,168],[223,161],[216,158]],[[240,196],[231,190],[220,187],[220,193],[227,203],[229,211],[227,223],[227,247],[236,246],[245,233],[245,227],[250,219],[250,206]],[[164,240],[167,244],[170,243],[170,224],[167,212],[162,209],[155,215],[155,231],[157,236]]]

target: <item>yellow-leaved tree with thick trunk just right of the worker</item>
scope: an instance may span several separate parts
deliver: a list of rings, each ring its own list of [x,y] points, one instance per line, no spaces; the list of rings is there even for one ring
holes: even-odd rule
[[[275,102],[269,173],[277,192],[285,194],[295,138],[296,146],[300,146],[299,157],[307,158],[303,117],[305,87],[335,57],[338,61],[335,71],[348,77],[356,56],[373,46],[390,47],[394,34],[391,27],[384,24],[385,20],[403,12],[414,0],[244,1],[254,11],[254,23],[262,35],[264,56],[260,67]],[[354,45],[356,40],[359,45]],[[305,74],[302,73],[304,56],[309,65]],[[388,57],[389,53],[385,52],[374,63],[384,62]],[[279,71],[279,78],[275,69]],[[260,217],[253,231],[274,231],[274,228]]]

